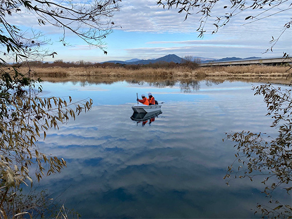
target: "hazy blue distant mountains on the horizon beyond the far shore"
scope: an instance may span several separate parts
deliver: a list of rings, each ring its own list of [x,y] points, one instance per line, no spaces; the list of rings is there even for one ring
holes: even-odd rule
[[[194,59],[199,59],[201,63],[206,62],[214,62],[214,61],[235,61],[235,60],[246,60],[246,59],[260,59],[260,57],[248,57],[248,58],[238,58],[238,57],[226,57],[221,59],[214,59],[214,58],[204,58],[204,57],[193,57]],[[175,54],[169,54],[160,58],[156,59],[138,59],[138,58],[132,58],[126,61],[119,61],[119,60],[113,60],[113,61],[104,61],[110,62],[110,63],[120,63],[120,64],[150,64],[150,63],[156,63],[156,62],[175,62],[175,63],[181,63],[184,59],[175,55]]]

